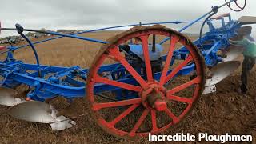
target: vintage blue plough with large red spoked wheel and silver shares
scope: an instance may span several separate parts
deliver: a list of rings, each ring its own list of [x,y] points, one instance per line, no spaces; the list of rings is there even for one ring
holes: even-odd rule
[[[243,2],[244,6],[240,6],[238,1],[231,0],[222,6],[234,3],[239,11],[246,5]],[[50,123],[53,130],[64,130],[76,124],[74,119],[65,114],[65,109],[60,114],[47,102],[59,96],[70,103],[74,98],[85,98],[92,118],[110,134],[134,138],[162,133],[178,125],[193,110],[201,94],[216,91],[215,85],[240,65],[234,58],[242,54],[242,47],[231,46],[229,38],[237,36],[242,25],[255,23],[256,18],[242,17],[237,21],[230,14],[212,18],[222,6],[212,7],[192,22],[126,25],[135,27],[107,42],[77,34],[23,29],[18,24],[14,29],[1,28],[17,30],[29,43],[26,46],[34,50],[37,64],[14,59],[14,51],[26,46],[1,47],[0,54],[7,56],[0,62],[0,104],[11,106],[8,114],[14,118]],[[202,35],[201,28],[200,38],[191,42],[181,32],[196,22],[202,22],[202,28],[207,24],[209,31]],[[159,25],[167,23],[187,25],[178,31]],[[220,25],[218,28],[216,23]],[[30,42],[23,31],[58,37]],[[40,64],[34,45],[62,37],[102,43],[90,69]],[[15,88],[21,85],[28,86],[26,98],[18,98]]]

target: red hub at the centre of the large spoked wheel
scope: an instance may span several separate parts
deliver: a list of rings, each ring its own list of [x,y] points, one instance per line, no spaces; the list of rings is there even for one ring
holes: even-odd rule
[[[159,86],[158,82],[148,82],[148,85],[147,89],[143,89],[139,93],[142,98],[142,105],[147,109],[166,110],[166,89]]]

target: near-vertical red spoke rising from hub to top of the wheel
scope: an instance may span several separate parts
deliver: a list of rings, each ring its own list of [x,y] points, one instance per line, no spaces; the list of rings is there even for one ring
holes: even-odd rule
[[[144,61],[146,65],[146,78],[148,81],[152,82],[153,76],[152,76],[152,69],[151,69],[151,62],[150,62],[149,44],[148,44],[149,35],[142,35],[139,38],[142,41],[142,49],[143,49]]]

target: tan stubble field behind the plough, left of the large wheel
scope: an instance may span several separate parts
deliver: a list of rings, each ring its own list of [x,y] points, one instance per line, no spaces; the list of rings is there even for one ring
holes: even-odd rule
[[[122,32],[122,30],[80,35],[88,38],[106,40],[120,32]],[[20,45],[22,44],[24,43]],[[36,45],[36,49],[40,62],[43,65],[89,67],[101,45],[100,43],[86,42],[73,38],[59,38],[54,41],[38,44]],[[15,51],[14,55],[15,58],[21,59],[23,62],[35,63],[34,53],[29,47]]]

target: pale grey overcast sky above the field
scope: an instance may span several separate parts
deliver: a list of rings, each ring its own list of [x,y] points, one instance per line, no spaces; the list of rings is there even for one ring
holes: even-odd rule
[[[244,0],[238,0],[244,1]],[[221,5],[224,0],[2,0],[0,20],[2,27],[14,27],[20,23],[24,28],[47,30],[91,30],[103,26],[116,26],[138,22],[166,22],[193,20]],[[247,0],[246,9],[240,13],[227,7],[219,14],[231,12],[233,18],[242,15],[256,16],[256,0]],[[181,26],[168,25],[179,29]],[[187,32],[198,33],[198,26]],[[1,37],[15,34],[2,32]],[[254,26],[256,36],[256,25]]]

